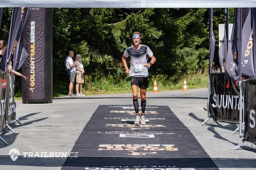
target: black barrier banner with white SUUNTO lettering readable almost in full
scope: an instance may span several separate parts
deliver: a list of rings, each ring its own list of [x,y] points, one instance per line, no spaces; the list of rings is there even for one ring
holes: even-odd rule
[[[210,113],[216,120],[239,121],[238,81],[228,80],[225,73],[212,73]]]

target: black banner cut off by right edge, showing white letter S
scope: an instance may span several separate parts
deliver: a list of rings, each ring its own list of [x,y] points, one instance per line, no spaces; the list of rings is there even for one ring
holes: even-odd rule
[[[244,139],[256,145],[256,80],[246,81]]]

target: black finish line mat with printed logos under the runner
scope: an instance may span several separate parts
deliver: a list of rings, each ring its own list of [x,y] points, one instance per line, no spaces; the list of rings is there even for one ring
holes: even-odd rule
[[[134,117],[133,106],[100,105],[61,169],[218,169],[168,106],[147,106],[146,125],[121,122]]]

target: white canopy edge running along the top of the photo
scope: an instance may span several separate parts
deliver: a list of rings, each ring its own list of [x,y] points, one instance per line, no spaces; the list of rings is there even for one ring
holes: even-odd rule
[[[0,7],[33,8],[253,8],[256,0],[0,0]]]

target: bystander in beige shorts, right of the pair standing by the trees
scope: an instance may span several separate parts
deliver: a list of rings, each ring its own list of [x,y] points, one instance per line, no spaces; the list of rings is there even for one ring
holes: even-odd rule
[[[81,62],[81,55],[76,55],[76,96],[84,96],[82,87],[84,83],[84,66]]]

